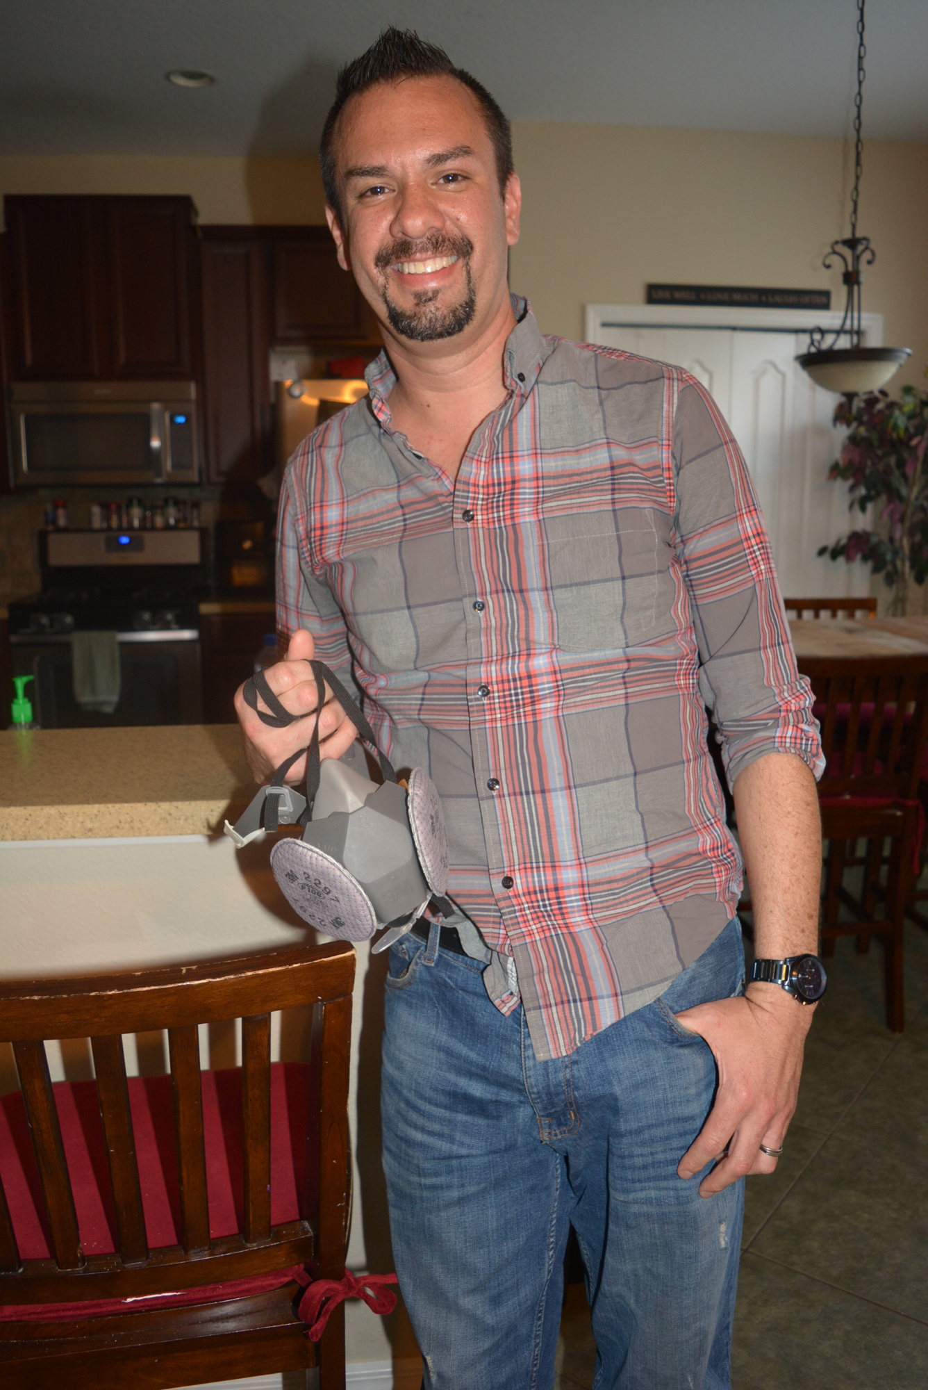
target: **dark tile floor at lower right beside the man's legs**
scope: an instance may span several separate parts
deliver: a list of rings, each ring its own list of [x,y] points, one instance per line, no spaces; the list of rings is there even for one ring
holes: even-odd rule
[[[907,940],[907,1026],[885,1024],[882,951],[838,941],[772,1177],[747,1180],[734,1390],[928,1386],[928,933]],[[557,1390],[589,1390],[571,1286]]]

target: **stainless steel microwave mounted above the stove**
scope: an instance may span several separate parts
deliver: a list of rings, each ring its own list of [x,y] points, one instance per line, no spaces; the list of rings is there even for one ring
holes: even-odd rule
[[[17,486],[196,482],[193,381],[14,382]]]

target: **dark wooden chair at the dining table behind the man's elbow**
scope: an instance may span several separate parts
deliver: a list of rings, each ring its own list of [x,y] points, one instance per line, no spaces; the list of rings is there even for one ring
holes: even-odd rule
[[[871,935],[882,937],[886,1020],[902,1033],[903,923],[924,824],[918,777],[928,737],[928,657],[806,657],[802,670],[815,695],[827,759],[818,784],[828,842],[822,954],[834,952],[839,935],[856,935],[860,951]],[[859,892],[847,884],[849,872],[859,874]],[[850,920],[839,920],[842,908]]]

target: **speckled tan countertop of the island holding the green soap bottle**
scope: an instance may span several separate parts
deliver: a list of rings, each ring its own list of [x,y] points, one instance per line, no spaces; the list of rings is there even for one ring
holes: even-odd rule
[[[253,794],[238,724],[0,733],[0,840],[217,834]]]

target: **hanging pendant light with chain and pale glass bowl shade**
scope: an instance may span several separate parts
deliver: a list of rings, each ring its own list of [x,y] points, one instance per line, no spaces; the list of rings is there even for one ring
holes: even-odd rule
[[[867,391],[879,391],[911,354],[911,348],[864,348],[861,343],[861,267],[872,265],[875,259],[870,238],[857,235],[857,202],[864,163],[861,136],[864,58],[867,56],[864,4],[865,0],[857,0],[857,95],[854,97],[854,188],[850,195],[850,236],[832,242],[822,263],[827,270],[831,270],[838,261],[845,267],[840,277],[846,289],[845,314],[840,325],[828,341],[825,341],[824,328],[813,328],[809,335],[809,352],[796,359],[815,385],[852,399]],[[847,339],[850,346],[839,348],[838,343],[842,339]]]

